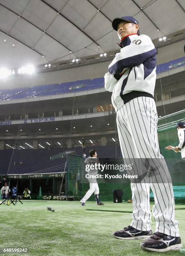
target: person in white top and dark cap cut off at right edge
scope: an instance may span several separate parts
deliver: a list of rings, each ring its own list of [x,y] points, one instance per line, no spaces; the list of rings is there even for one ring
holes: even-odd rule
[[[185,122],[178,122],[177,130],[178,130],[178,137],[179,137],[179,145],[176,147],[167,146],[166,149],[173,150],[176,153],[180,152],[182,159],[185,160]]]

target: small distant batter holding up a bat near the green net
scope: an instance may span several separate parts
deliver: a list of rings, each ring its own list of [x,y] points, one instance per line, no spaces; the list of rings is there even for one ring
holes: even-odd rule
[[[97,158],[97,152],[92,149],[90,150],[90,156],[85,159],[85,165],[95,165],[99,163],[99,159]],[[89,172],[90,175],[96,175],[97,174],[97,169],[93,169],[91,172]],[[95,193],[95,199],[97,205],[104,205],[104,203],[100,202],[100,197],[99,197],[99,187],[97,184],[96,179],[88,179],[90,183],[90,189],[87,191],[85,196],[80,200],[80,203],[82,206],[85,206],[85,202],[89,199],[89,197]],[[92,183],[93,182],[93,183]]]

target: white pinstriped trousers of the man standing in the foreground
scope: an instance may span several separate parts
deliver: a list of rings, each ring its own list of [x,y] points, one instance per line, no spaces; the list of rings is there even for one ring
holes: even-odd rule
[[[159,150],[157,123],[155,101],[150,97],[130,100],[117,111],[117,130],[123,158],[163,159]],[[168,172],[166,164],[163,164],[163,170]],[[179,223],[175,220],[172,183],[131,183],[131,225],[138,230],[151,229],[150,187],[155,199],[152,209],[156,221],[155,232],[178,237]]]

